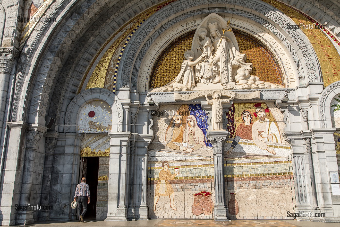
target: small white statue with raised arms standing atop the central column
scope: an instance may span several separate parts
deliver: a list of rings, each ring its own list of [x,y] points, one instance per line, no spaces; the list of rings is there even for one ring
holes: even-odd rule
[[[230,103],[231,100],[234,99],[234,97],[231,97],[229,99],[220,99],[221,98],[221,92],[220,91],[214,91],[212,93],[212,99],[210,100],[207,95],[205,95],[205,98],[209,105],[212,105],[212,130],[223,130],[222,123],[222,115],[223,115],[223,103]]]

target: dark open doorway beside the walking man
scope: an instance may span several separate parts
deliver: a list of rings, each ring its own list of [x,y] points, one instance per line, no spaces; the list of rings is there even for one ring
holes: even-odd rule
[[[90,204],[87,205],[85,214],[86,219],[96,219],[97,207],[97,190],[98,190],[98,170],[99,170],[99,157],[85,157],[86,167],[86,183],[90,188]]]

